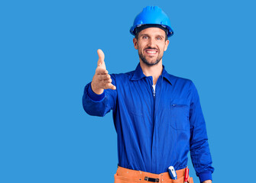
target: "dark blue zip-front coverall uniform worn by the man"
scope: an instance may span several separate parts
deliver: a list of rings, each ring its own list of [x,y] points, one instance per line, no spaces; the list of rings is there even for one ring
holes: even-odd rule
[[[140,64],[111,78],[116,90],[105,89],[102,95],[86,85],[83,108],[101,117],[112,110],[118,165],[160,174],[170,165],[186,168],[190,151],[200,181],[212,179],[206,123],[193,82],[168,74],[163,66],[154,97],[153,78],[144,75]]]

